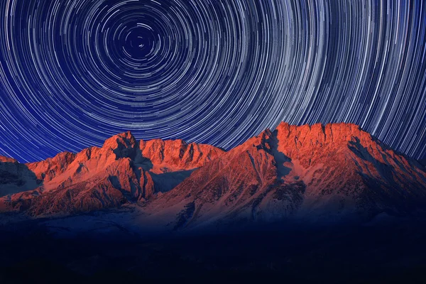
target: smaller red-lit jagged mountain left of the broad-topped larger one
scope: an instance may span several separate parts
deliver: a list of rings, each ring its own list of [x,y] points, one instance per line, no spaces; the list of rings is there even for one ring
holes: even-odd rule
[[[136,141],[130,132],[121,133],[105,141],[102,148],[60,153],[27,164],[43,184],[4,197],[0,209],[26,210],[33,215],[69,214],[146,200],[156,192],[171,190],[192,170],[222,153],[208,145]]]

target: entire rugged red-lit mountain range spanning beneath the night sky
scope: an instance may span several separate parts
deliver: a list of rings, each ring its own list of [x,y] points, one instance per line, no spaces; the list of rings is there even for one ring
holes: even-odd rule
[[[182,141],[137,142],[124,133],[102,148],[61,153],[28,168],[43,184],[3,197],[3,211],[72,214],[139,202],[141,224],[182,229],[370,219],[426,204],[425,168],[353,124],[282,123],[226,153]]]

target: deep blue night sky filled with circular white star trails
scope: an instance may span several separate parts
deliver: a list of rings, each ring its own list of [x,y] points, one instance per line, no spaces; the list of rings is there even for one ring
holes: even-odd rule
[[[422,1],[4,0],[0,153],[351,122],[426,153]]]

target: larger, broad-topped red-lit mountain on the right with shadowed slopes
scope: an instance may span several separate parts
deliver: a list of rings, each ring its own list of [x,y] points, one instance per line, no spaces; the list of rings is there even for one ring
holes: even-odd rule
[[[415,160],[353,124],[282,123],[196,170],[146,205],[175,229],[283,219],[368,219],[426,204]]]

